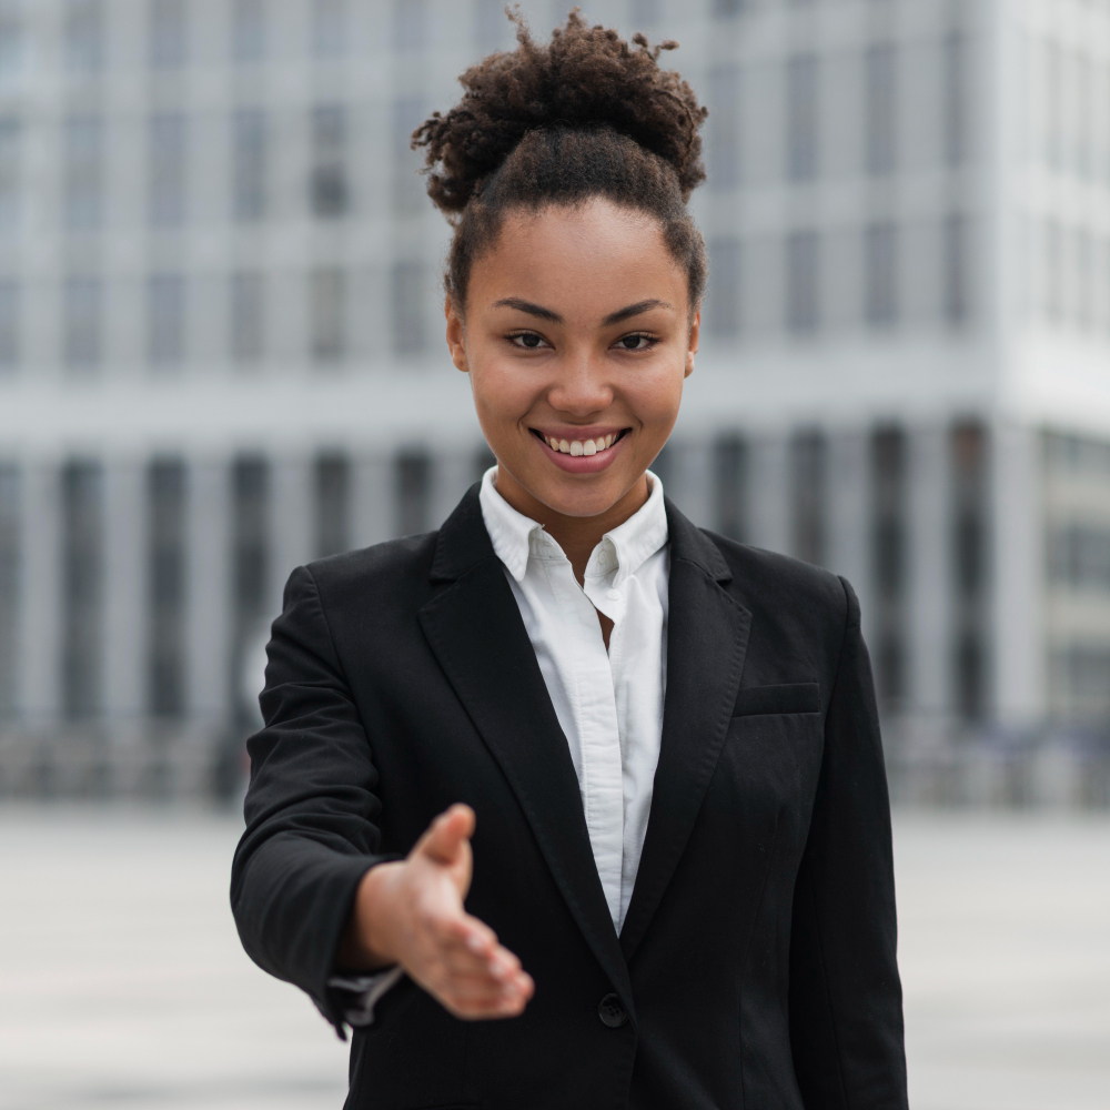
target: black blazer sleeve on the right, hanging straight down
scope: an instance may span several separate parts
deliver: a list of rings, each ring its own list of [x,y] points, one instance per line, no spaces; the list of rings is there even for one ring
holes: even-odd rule
[[[859,602],[847,599],[790,935],[790,1043],[807,1110],[904,1110],[890,803]]]

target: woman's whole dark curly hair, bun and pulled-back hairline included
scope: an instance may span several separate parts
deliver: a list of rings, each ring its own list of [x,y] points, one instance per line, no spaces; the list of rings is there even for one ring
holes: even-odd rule
[[[507,11],[507,9],[506,9]],[[698,129],[708,111],[659,54],[676,42],[632,46],[588,27],[575,8],[541,46],[518,12],[517,47],[471,67],[463,99],[413,132],[428,195],[454,225],[444,284],[462,307],[475,260],[505,212],[593,196],[656,216],[686,270],[690,312],[706,281],[705,243],[686,209],[705,180]]]

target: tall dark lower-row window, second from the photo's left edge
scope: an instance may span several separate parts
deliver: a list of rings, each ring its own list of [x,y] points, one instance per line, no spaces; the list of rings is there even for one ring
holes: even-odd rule
[[[104,521],[100,464],[73,460],[61,475],[62,708],[70,720],[101,708]]]

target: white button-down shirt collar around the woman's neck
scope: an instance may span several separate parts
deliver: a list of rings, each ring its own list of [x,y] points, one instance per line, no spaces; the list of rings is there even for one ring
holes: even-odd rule
[[[494,485],[496,474],[497,467],[491,466],[482,476],[478,493],[482,519],[497,558],[517,582],[523,582],[529,557],[565,559],[566,555],[544,532],[543,525],[518,513],[497,493]],[[652,492],[647,501],[624,524],[602,537],[586,564],[587,576],[609,574],[615,564],[614,585],[619,585],[666,544],[667,511],[663,503],[663,483],[650,471],[648,476],[652,480]]]

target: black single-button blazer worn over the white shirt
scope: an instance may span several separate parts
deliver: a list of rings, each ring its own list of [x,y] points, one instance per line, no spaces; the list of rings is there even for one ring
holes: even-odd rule
[[[354,1032],[352,1110],[906,1106],[855,595],[667,518],[663,745],[619,937],[477,487],[438,533],[290,578],[232,874],[248,952],[341,1027],[327,979],[360,878],[466,801],[467,909],[536,982],[522,1017],[467,1022],[402,980]]]

